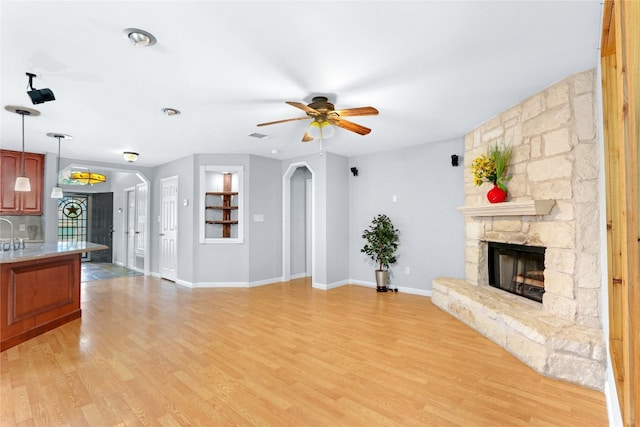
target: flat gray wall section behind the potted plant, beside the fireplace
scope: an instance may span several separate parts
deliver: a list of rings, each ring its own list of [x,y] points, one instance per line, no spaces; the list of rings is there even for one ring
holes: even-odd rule
[[[362,232],[379,213],[387,214],[400,230],[392,286],[428,294],[434,277],[464,277],[464,217],[457,208],[464,205],[468,171],[451,166],[451,155],[463,152],[463,140],[456,139],[350,159],[349,166],[359,170],[349,179],[352,280],[375,282],[376,266],[360,249]]]

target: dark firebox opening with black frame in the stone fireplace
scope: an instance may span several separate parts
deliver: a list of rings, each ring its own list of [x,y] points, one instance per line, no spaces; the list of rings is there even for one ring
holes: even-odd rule
[[[489,284],[541,303],[544,294],[545,248],[498,242],[487,243]]]

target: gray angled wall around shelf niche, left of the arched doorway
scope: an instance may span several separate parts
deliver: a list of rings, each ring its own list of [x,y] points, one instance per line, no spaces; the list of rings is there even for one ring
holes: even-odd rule
[[[199,243],[200,166],[243,166],[243,243]],[[239,284],[277,281],[282,270],[281,162],[244,154],[198,154],[159,166],[154,170],[151,196],[152,263],[159,272],[161,179],[178,176],[179,282],[192,285]],[[187,206],[183,205],[188,199]],[[261,215],[262,222],[254,222]]]

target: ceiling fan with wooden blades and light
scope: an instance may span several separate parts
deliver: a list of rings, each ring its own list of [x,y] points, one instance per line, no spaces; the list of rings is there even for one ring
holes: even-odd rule
[[[312,102],[308,105],[294,101],[286,101],[286,103],[301,109],[302,111],[307,113],[307,115],[305,117],[296,117],[294,119],[284,119],[276,120],[275,122],[260,123],[258,124],[258,126],[275,125],[278,123],[313,119],[313,121],[305,131],[304,136],[302,137],[302,142],[313,141],[314,137],[318,136],[320,138],[326,138],[328,136],[326,135],[326,132],[331,129],[331,126],[327,125],[335,125],[360,135],[366,135],[371,132],[371,129],[345,120],[343,119],[343,117],[375,116],[378,114],[378,110],[373,107],[357,107],[336,110],[334,105],[329,102],[329,99],[325,96],[314,97],[312,99]]]

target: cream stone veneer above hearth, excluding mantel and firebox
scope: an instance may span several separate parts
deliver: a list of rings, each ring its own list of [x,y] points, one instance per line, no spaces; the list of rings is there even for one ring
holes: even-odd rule
[[[508,201],[556,204],[549,215],[466,217],[465,274],[488,284],[487,241],[544,246],[544,310],[601,329],[595,85],[594,70],[572,75],[466,135],[467,169],[496,141],[513,146]],[[465,173],[465,205],[488,203],[490,185]]]

